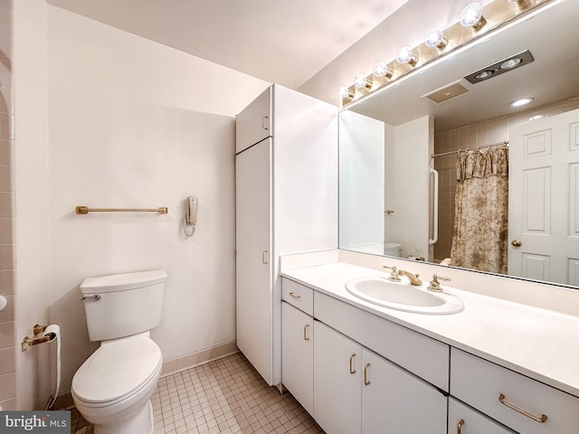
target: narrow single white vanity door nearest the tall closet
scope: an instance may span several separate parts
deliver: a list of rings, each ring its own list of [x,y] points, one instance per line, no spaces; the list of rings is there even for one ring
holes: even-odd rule
[[[281,306],[281,382],[314,412],[314,320],[285,301]]]

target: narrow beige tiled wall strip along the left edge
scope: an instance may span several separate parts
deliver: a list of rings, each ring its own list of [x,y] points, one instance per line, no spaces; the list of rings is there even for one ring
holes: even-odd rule
[[[14,347],[14,88],[12,0],[0,0],[0,406],[16,407]]]

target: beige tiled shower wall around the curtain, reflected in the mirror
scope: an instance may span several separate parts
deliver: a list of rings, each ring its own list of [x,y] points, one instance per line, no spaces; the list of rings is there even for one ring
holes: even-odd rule
[[[434,135],[434,153],[442,154],[465,147],[485,146],[507,141],[510,127],[532,122],[531,119],[535,116],[550,117],[573,109],[579,109],[579,98],[565,99],[540,108],[520,111],[514,115],[436,133]],[[439,172],[439,239],[434,244],[435,262],[451,257],[454,194],[456,192],[455,165],[456,154],[438,156],[434,159],[434,168]]]

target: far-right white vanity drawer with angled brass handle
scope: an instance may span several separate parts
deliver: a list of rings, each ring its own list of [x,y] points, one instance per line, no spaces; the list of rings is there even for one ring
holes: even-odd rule
[[[456,348],[451,395],[525,434],[569,434],[579,427],[579,398]],[[543,422],[532,419],[544,415]]]

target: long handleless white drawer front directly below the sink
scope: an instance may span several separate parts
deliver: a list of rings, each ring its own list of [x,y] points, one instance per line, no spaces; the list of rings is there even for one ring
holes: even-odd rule
[[[449,390],[449,345],[314,291],[314,316],[405,370]]]

